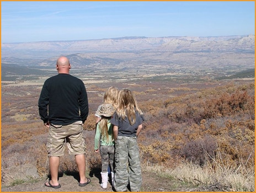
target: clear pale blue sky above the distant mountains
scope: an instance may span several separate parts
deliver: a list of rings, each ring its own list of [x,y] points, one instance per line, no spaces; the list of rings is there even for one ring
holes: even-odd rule
[[[1,2],[1,42],[251,34],[254,1]]]

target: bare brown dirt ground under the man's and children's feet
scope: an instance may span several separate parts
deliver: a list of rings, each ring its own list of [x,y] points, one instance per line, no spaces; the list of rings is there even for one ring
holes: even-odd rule
[[[2,192],[111,192],[113,191],[110,183],[108,188],[103,190],[99,185],[99,176],[89,176],[90,184],[85,187],[78,186],[77,176],[63,175],[60,176],[59,183],[61,188],[54,189],[44,186],[45,180],[37,181],[36,183],[24,183],[15,186],[2,187]],[[142,187],[141,191],[150,192],[168,192],[175,191],[170,189],[172,181],[167,178],[159,178],[159,176],[142,173]]]

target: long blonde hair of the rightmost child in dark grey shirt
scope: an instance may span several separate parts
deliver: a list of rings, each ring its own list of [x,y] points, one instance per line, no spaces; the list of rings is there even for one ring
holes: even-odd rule
[[[122,120],[125,120],[125,117],[128,118],[130,125],[134,125],[136,122],[136,114],[138,111],[140,115],[142,115],[142,111],[138,108],[137,100],[134,95],[132,95],[131,90],[122,89],[118,94],[118,107],[117,114]]]

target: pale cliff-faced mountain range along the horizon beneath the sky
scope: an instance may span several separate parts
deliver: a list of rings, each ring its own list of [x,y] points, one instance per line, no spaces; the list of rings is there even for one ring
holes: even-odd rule
[[[73,53],[254,52],[255,35],[216,37],[120,37],[98,40],[2,43],[2,58],[50,58]]]

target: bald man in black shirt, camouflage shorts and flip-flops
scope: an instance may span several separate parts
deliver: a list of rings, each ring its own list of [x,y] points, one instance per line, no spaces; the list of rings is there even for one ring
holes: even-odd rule
[[[45,186],[61,187],[58,167],[65,142],[68,153],[75,156],[80,176],[78,185],[86,186],[90,183],[90,179],[86,178],[86,148],[82,132],[89,112],[86,87],[81,79],[70,75],[71,65],[67,57],[58,58],[56,69],[58,74],[45,81],[38,101],[41,120],[49,128],[46,148],[51,179]]]

